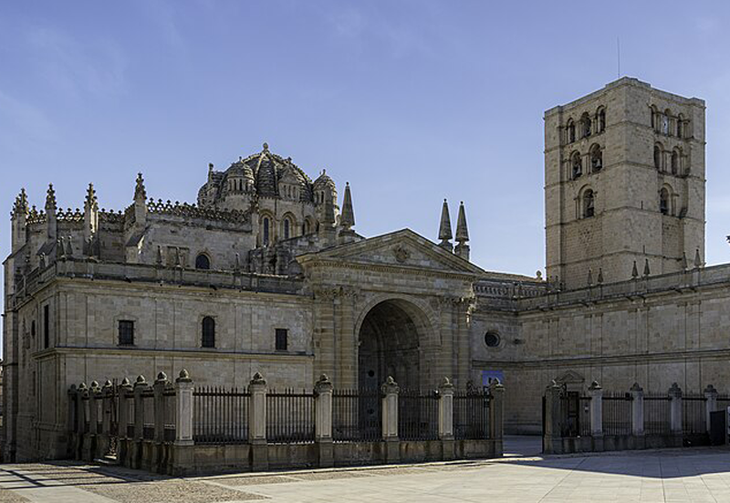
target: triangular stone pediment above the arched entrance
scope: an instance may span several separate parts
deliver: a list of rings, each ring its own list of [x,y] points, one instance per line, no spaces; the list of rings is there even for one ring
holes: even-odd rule
[[[297,257],[297,260],[302,264],[306,264],[310,260],[330,260],[354,264],[420,268],[444,273],[480,276],[485,273],[480,267],[444,250],[411,229],[333,246],[318,253]]]

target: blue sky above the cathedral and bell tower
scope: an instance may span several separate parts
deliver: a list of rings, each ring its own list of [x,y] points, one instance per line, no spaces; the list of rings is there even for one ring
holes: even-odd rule
[[[543,121],[621,74],[707,103],[708,263],[730,261],[730,5],[125,1],[0,4],[0,207],[193,202],[261,149],[352,186],[356,230],[435,240],[466,204],[475,263],[545,262]],[[4,213],[3,215],[8,215]],[[454,222],[455,224],[455,222]],[[9,218],[0,227],[9,252]]]

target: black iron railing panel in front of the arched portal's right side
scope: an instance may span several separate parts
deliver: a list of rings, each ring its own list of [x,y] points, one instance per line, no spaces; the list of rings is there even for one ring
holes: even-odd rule
[[[398,436],[401,440],[437,440],[439,395],[401,390],[398,395]]]

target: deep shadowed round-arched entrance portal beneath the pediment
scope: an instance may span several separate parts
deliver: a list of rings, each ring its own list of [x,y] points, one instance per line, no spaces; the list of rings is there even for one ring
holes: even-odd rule
[[[377,388],[391,375],[401,388],[421,387],[422,311],[411,302],[390,299],[370,309],[359,334],[360,387]]]

